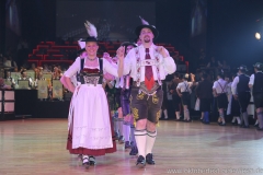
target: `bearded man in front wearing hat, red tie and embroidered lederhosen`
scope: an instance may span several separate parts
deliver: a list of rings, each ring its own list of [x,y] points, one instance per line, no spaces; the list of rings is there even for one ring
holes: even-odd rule
[[[139,155],[136,164],[145,167],[146,163],[155,164],[152,148],[163,98],[161,81],[168,73],[172,74],[176,66],[164,47],[153,44],[159,34],[155,26],[142,24],[136,27],[135,33],[142,44],[125,57],[123,72],[129,73],[134,80],[130,107],[136,120],[135,139]]]

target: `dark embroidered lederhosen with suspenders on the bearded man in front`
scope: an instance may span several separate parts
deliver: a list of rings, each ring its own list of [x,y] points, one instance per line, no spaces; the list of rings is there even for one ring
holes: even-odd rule
[[[139,50],[135,48],[137,63],[140,61]],[[155,52],[156,61],[159,61],[158,52]],[[130,108],[134,119],[148,119],[157,124],[161,116],[161,105],[163,100],[162,82],[160,80],[159,67],[157,66],[157,81],[149,91],[145,82],[140,82],[140,67],[137,66],[137,81],[133,82],[130,92]],[[153,70],[152,70],[153,71]]]

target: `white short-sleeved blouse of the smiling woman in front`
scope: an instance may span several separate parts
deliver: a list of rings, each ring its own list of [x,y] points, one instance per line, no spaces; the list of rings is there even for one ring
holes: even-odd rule
[[[65,72],[64,75],[67,78],[71,78],[77,72],[79,72],[80,71],[80,60],[81,60],[80,57],[76,58],[75,62],[69,67],[69,69]],[[98,65],[99,65],[98,68],[100,69],[99,58],[96,58],[96,60],[94,60],[94,61],[98,61]],[[84,68],[88,68],[85,66],[85,60],[84,60]],[[118,77],[117,69],[105,59],[103,59],[103,72],[104,71],[113,74],[114,77]]]

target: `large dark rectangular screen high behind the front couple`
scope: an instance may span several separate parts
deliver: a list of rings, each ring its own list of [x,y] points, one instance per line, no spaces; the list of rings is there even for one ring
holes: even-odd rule
[[[64,39],[87,37],[85,20],[104,40],[134,40],[139,16],[156,25],[156,2],[57,0],[56,7],[56,36]]]

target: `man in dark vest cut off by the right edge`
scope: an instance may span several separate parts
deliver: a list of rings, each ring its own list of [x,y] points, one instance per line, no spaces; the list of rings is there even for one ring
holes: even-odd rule
[[[255,73],[250,77],[249,86],[252,89],[254,105],[259,120],[258,130],[263,131],[263,65],[256,62],[254,65]]]

